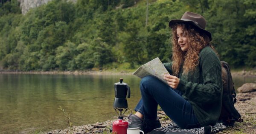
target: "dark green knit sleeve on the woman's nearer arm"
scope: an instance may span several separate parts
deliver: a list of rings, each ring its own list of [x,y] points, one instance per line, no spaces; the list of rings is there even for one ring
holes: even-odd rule
[[[195,103],[212,103],[220,100],[222,96],[221,62],[214,51],[200,54],[198,61],[202,82],[198,84],[180,79],[177,89],[183,92],[185,99]]]

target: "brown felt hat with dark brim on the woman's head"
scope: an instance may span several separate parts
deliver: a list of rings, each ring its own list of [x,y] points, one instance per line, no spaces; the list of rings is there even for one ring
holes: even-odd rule
[[[195,14],[187,11],[185,14],[183,14],[180,20],[171,20],[169,22],[169,27],[173,28],[177,22],[184,22],[194,25],[195,27],[203,31],[209,37],[210,41],[212,40],[212,34],[209,31],[205,30],[206,20],[200,14]]]

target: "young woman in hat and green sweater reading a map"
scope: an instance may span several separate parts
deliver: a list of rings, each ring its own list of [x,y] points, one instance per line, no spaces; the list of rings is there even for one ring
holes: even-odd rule
[[[161,127],[157,105],[180,128],[214,126],[221,112],[221,62],[212,47],[206,20],[186,12],[180,20],[171,20],[172,62],[164,66],[169,85],[153,76],[140,82],[142,99],[136,114],[128,120],[129,128],[140,127],[150,132]]]

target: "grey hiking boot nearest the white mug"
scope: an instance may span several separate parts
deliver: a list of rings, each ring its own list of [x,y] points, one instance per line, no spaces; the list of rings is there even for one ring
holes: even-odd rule
[[[140,130],[144,131],[143,123],[144,120],[142,120],[137,115],[132,114],[128,120],[128,128],[140,128]]]

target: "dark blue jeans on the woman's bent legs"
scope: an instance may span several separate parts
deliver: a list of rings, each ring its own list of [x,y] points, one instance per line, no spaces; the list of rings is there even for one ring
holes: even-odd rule
[[[144,115],[144,120],[157,118],[157,105],[180,128],[201,127],[191,103],[181,97],[182,92],[173,89],[153,76],[144,77],[140,81],[142,98],[134,109]]]

